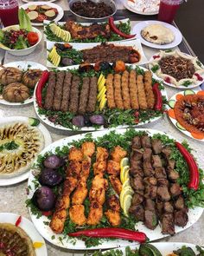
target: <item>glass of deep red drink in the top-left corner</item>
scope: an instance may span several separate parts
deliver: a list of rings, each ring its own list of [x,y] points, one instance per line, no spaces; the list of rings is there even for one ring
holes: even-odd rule
[[[18,1],[0,0],[0,18],[4,27],[18,24]]]

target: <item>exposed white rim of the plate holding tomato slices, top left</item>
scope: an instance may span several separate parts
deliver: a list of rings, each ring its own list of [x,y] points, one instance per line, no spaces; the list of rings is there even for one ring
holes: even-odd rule
[[[61,8],[60,5],[57,5],[55,3],[49,3],[48,1],[45,2],[29,2],[29,3],[25,3],[21,6],[22,9],[26,10],[27,8],[29,8],[30,5],[49,5],[52,8],[55,8],[58,10],[58,15],[52,20],[54,22],[58,22],[61,20],[62,16],[64,16],[64,10]],[[42,23],[32,23],[31,24],[35,27],[35,26],[43,26],[43,22]]]

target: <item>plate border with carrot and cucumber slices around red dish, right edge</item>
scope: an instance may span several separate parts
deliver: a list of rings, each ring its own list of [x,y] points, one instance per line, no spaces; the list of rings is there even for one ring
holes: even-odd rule
[[[186,91],[182,91],[180,93],[175,94],[174,96],[172,96],[169,100],[169,102],[176,102],[178,99],[180,99],[183,95],[189,95],[189,93],[192,92],[192,95],[196,94],[196,95],[204,95],[204,91],[203,90],[186,90]],[[175,128],[177,128],[180,132],[182,132],[182,134],[187,135],[190,138],[193,138],[194,140],[197,141],[204,141],[204,135],[197,135],[194,133],[190,133],[188,132],[188,130],[186,130],[186,128],[183,128],[182,125],[175,119],[175,111],[174,111],[174,105],[171,105],[169,103],[168,107],[168,115],[169,115],[169,119],[170,121],[174,124]]]

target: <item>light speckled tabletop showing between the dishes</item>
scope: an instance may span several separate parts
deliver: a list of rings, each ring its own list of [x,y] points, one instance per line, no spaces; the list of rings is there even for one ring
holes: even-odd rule
[[[131,20],[131,26],[135,26],[137,23],[145,20],[155,20],[156,16],[142,16],[137,15],[136,13],[132,13],[129,10],[125,10],[123,1],[116,0],[117,3],[117,13],[115,14],[116,19],[128,17]],[[54,3],[60,5],[64,10],[64,16],[61,21],[66,21],[68,18],[72,17],[72,14],[68,10],[68,2],[66,0],[57,0]],[[24,4],[22,1],[19,1],[19,5]],[[176,24],[174,23],[176,26]],[[17,61],[33,61],[39,62],[46,66],[46,42],[43,38],[43,27],[40,28],[42,32],[42,40],[41,43],[37,46],[35,51],[28,56],[12,56],[8,52],[1,50],[0,52],[0,61],[1,64],[17,62]],[[179,29],[179,28],[178,28]],[[181,31],[182,32],[182,31]],[[194,50],[188,45],[188,42],[185,38],[182,39],[182,43],[176,47],[176,49],[181,50],[189,55],[194,56]],[[143,45],[143,52],[147,59],[150,59],[151,56],[155,55],[158,49],[151,49],[147,46]],[[178,89],[165,86],[167,91],[168,98],[175,93],[179,92]],[[201,88],[198,88],[201,89]],[[33,104],[22,105],[22,106],[6,106],[0,105],[0,119],[8,116],[28,116],[28,117],[36,117],[35,108]],[[48,125],[44,124],[52,137],[52,141],[60,140],[67,136],[72,136],[79,134],[79,132],[70,132],[58,130],[56,128],[51,128]],[[194,149],[194,156],[199,163],[201,168],[204,168],[204,155],[203,155],[203,142],[196,141],[193,138],[190,138],[186,135],[183,135],[178,129],[173,126],[173,124],[169,121],[169,117],[164,115],[159,121],[147,123],[143,126],[136,126],[135,128],[151,128],[156,129],[161,132],[165,132],[167,135],[173,136],[177,141],[188,141],[190,148]],[[0,212],[1,213],[17,213],[22,215],[30,220],[29,209],[26,207],[25,201],[27,200],[27,184],[28,181],[22,181],[16,185],[12,186],[3,186],[0,187]],[[204,245],[204,214],[202,213],[201,218],[194,223],[193,226],[190,226],[188,229],[181,233],[176,233],[174,236],[166,237],[163,240],[159,241],[169,241],[169,242],[187,242],[193,243],[195,245]],[[158,241],[158,240],[157,240]],[[48,248],[48,255],[55,256],[67,256],[67,255],[82,255],[85,251],[74,251],[68,249],[62,249],[60,247],[54,246],[48,241],[46,241],[46,245]]]

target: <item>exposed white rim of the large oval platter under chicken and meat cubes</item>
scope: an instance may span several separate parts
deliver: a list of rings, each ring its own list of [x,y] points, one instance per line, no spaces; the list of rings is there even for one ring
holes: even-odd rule
[[[127,129],[115,129],[115,131],[118,134],[124,134]],[[137,129],[137,131],[146,131],[149,135],[154,135],[154,134],[161,134],[165,135],[165,133],[153,129]],[[99,131],[99,132],[93,132],[92,133],[92,138],[96,139],[99,137],[102,137],[104,135],[109,134],[110,131],[104,130],[104,131]],[[169,138],[174,139],[172,136],[168,135]],[[86,138],[86,134],[81,134],[81,135],[74,135],[74,136],[69,136],[67,138],[61,139],[59,141],[55,141],[54,143],[50,144],[47,148],[44,148],[41,151],[41,155],[46,154],[47,152],[55,152],[55,148],[62,148],[63,146],[67,146],[67,143],[71,143],[73,141],[79,141],[81,139]],[[36,161],[35,161],[36,162]],[[28,186],[31,187],[29,190],[29,199],[32,198],[34,192],[35,192],[35,185],[32,181],[35,180],[34,175],[32,174],[32,171],[29,174],[29,182]],[[188,224],[185,227],[181,226],[175,226],[175,233],[179,233],[185,229],[187,229],[189,226],[192,226],[199,218],[201,217],[201,214],[203,212],[203,208],[201,207],[194,207],[194,209],[189,209],[188,211]],[[33,221],[36,229],[38,230],[41,235],[48,240],[50,243],[54,244],[54,246],[60,246],[63,248],[67,249],[74,249],[74,250],[86,250],[86,246],[84,241],[82,240],[77,240],[76,243],[73,245],[70,241],[67,239],[63,239],[62,234],[55,234],[51,228],[48,225],[45,225],[43,221],[48,221],[48,217],[46,216],[41,216],[41,218],[37,219],[36,215],[31,213],[29,210],[31,220]],[[167,234],[163,234],[161,230],[161,226],[156,226],[155,230],[150,230],[146,226],[143,225],[142,222],[138,222],[136,224],[136,230],[139,230],[147,235],[147,237],[152,240],[158,240],[162,239],[164,237],[167,237]],[[61,240],[63,241],[63,244],[61,243]],[[105,240],[102,242],[101,245],[92,247],[91,249],[106,249],[106,248],[113,248],[113,247],[120,247],[120,246],[131,246],[132,243],[127,241],[127,240]]]

